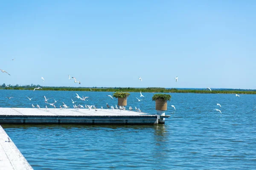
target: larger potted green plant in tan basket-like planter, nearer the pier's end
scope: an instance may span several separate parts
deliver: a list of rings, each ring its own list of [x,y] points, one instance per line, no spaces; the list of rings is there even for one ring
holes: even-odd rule
[[[156,102],[157,111],[167,110],[167,101],[171,101],[171,95],[169,94],[154,94],[152,100]]]

